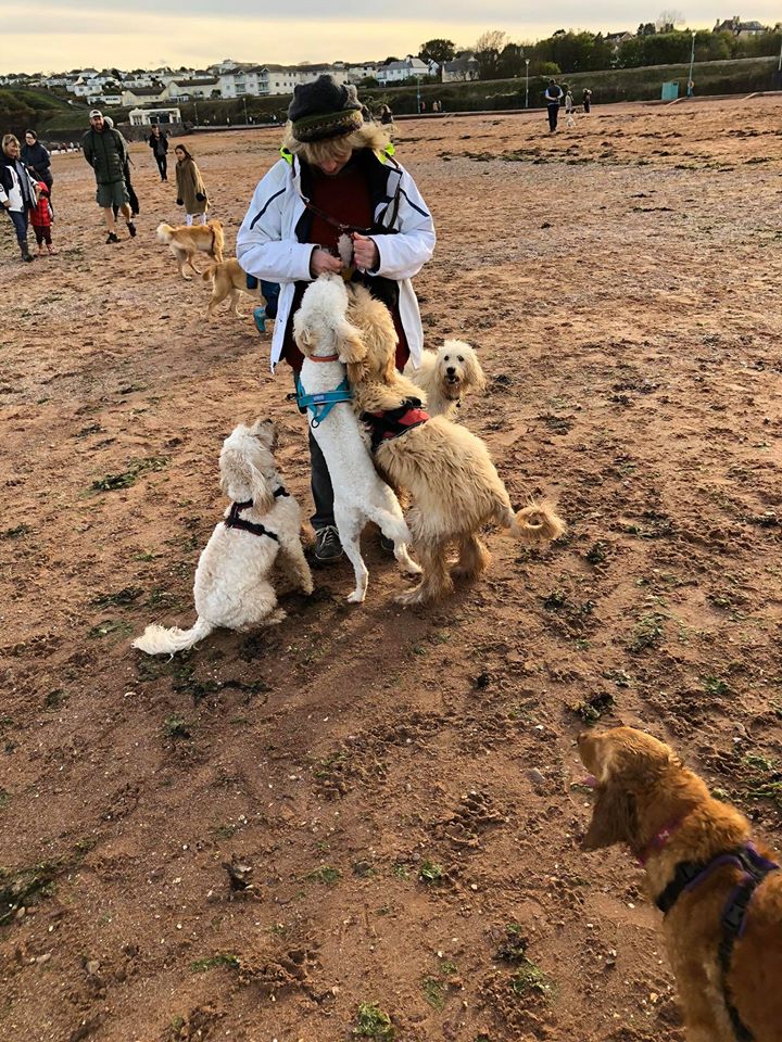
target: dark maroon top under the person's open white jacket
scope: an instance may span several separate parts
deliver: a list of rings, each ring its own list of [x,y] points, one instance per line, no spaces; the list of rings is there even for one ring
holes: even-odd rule
[[[355,228],[369,228],[373,223],[371,195],[369,193],[369,183],[364,176],[361,167],[350,162],[339,174],[327,175],[318,167],[312,166],[312,189],[310,201],[313,206],[328,214],[333,220],[343,225],[353,225]],[[313,213],[312,227],[306,241],[323,246],[335,256],[338,256],[337,240],[341,232],[332,224],[329,224],[317,213]],[[371,281],[371,280],[370,280]],[[295,372],[301,372],[304,355],[299,351],[293,340],[293,316],[304,296],[310,282],[297,282],[288,317],[285,340],[282,343],[282,357],[293,368]],[[391,308],[394,329],[396,330],[396,368],[402,371],[405,363],[409,358],[409,347],[407,338],[402,328],[402,320],[399,315],[399,307]]]

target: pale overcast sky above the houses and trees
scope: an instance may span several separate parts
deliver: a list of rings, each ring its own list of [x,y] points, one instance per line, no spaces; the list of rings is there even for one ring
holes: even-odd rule
[[[469,47],[487,29],[504,29],[518,42],[558,28],[634,31],[663,10],[681,11],[692,28],[711,28],[740,8],[722,10],[706,0],[560,0],[526,8],[510,0],[288,0],[276,8],[262,0],[43,0],[8,7],[0,20],[0,73],[203,66],[224,58],[282,64],[403,58],[433,37]],[[773,25],[781,10],[778,0],[754,0],[741,14]]]

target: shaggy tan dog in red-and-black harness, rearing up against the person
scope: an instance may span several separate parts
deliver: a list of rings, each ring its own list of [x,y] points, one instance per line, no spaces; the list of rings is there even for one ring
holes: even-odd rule
[[[364,357],[348,366],[354,408],[362,418],[371,420],[373,415],[403,409],[406,399],[419,399],[419,389],[394,368],[396,333],[386,305],[358,287],[348,315],[361,331],[365,348]],[[548,543],[565,531],[545,503],[514,513],[483,442],[443,416],[400,436],[383,437],[375,462],[393,486],[406,490],[413,499],[407,522],[424,577],[415,589],[398,597],[400,603],[450,594],[452,576],[480,575],[491,560],[478,537],[482,524],[495,522],[530,544]],[[449,574],[447,551],[454,544],[458,561]]]

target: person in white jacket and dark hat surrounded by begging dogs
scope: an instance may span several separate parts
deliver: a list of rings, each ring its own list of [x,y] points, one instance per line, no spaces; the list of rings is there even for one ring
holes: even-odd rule
[[[388,128],[365,122],[356,88],[321,75],[300,84],[288,109],[282,157],[255,189],[237,236],[237,259],[280,284],[272,368],[301,370],[293,315],[319,275],[341,274],[388,305],[396,366],[420,363],[424,333],[412,279],[432,255],[434,225],[415,181],[396,162]],[[350,263],[340,254],[350,237]],[[315,560],[342,555],[326,460],[310,431]]]

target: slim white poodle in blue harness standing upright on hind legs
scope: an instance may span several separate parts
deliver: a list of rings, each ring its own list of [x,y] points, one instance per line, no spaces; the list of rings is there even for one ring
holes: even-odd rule
[[[345,365],[360,361],[366,353],[358,330],[345,318],[346,310],[348,291],[339,276],[320,276],[307,288],[293,319],[295,341],[305,356],[300,378],[302,401],[336,391],[345,382]],[[314,404],[307,417],[331,478],[340,542],[355,573],[355,589],[348,600],[361,603],[369,581],[360,545],[367,521],[374,521],[393,541],[394,557],[404,571],[415,574],[420,568],[407,552],[411,536],[402,508],[375,470],[350,402],[330,408]]]

